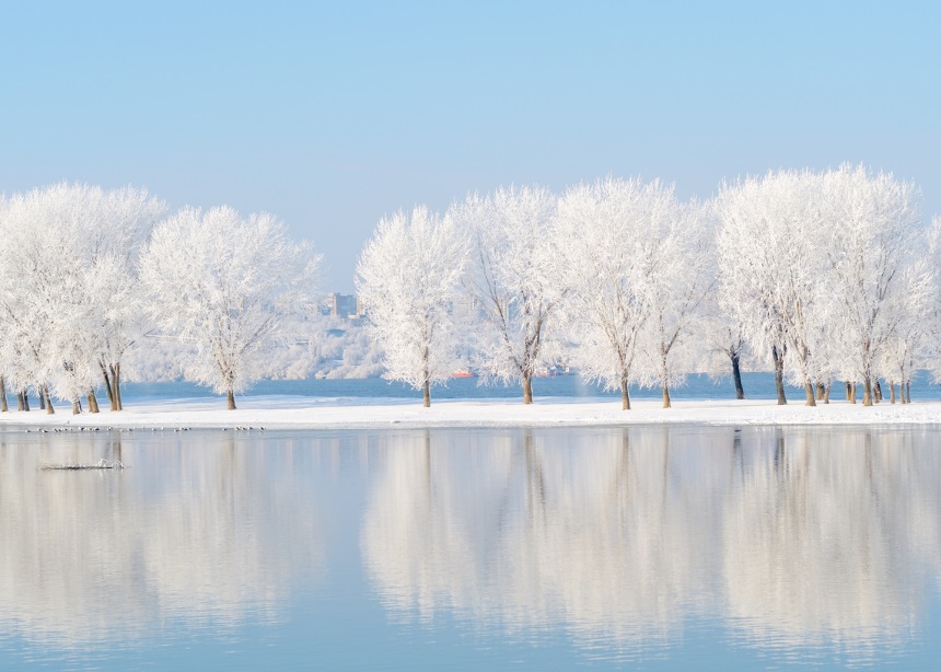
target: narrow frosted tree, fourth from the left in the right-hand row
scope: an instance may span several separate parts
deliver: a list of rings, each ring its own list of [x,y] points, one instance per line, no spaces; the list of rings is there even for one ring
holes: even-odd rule
[[[670,387],[683,382],[698,355],[692,337],[705,326],[704,302],[716,283],[712,206],[676,204],[662,223],[644,234],[655,266],[644,290],[650,316],[640,334],[641,384],[659,386],[670,408]]]

